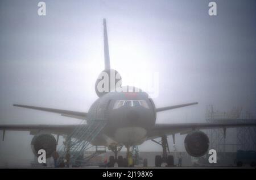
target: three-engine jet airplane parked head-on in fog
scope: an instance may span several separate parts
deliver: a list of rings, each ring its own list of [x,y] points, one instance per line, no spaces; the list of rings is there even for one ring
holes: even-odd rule
[[[87,124],[93,123],[96,119],[104,119],[106,125],[102,128],[100,133],[90,142],[96,146],[106,146],[114,152],[114,157],[111,158],[112,166],[114,162],[124,161],[125,158],[117,158],[120,147],[126,147],[127,158],[131,146],[141,145],[144,141],[152,140],[158,143],[163,148],[162,156],[155,156],[155,165],[160,167],[163,162],[168,166],[174,165],[174,157],[167,156],[168,147],[167,136],[172,135],[175,144],[175,134],[187,134],[184,140],[185,150],[193,157],[200,157],[207,153],[209,148],[209,138],[202,129],[210,128],[226,128],[231,127],[247,127],[255,126],[253,122],[220,122],[220,123],[167,123],[156,124],[158,112],[174,110],[176,108],[192,106],[198,104],[197,102],[178,104],[167,107],[155,107],[154,101],[148,94],[141,89],[133,86],[121,86],[121,76],[117,70],[110,68],[108,33],[106,28],[106,19],[103,20],[104,26],[104,59],[105,69],[101,72],[95,83],[95,91],[98,99],[90,106],[88,112],[78,112],[71,110],[60,110],[55,108],[27,106],[23,104],[13,104],[15,107],[30,108],[34,110],[47,111],[57,113],[69,118],[76,118],[86,120]],[[108,76],[105,76],[105,75]],[[114,74],[114,83],[109,80],[109,77]],[[107,82],[106,84],[102,81]],[[102,91],[102,87],[104,90]],[[121,89],[121,90],[120,90]],[[135,91],[135,89],[137,89]],[[126,91],[122,91],[126,90]],[[237,119],[236,119],[237,120]],[[34,138],[31,144],[39,143],[45,145],[47,149],[47,157],[51,157],[51,153],[56,150],[59,135],[68,136],[77,124],[71,125],[30,125],[30,124],[17,124],[17,125],[0,125],[0,130],[3,130],[3,139],[5,131],[30,131]],[[57,141],[53,135],[58,135]],[[158,142],[155,139],[161,138]],[[53,146],[51,146],[53,144]],[[33,147],[33,146],[32,146]],[[118,148],[119,147],[119,148]],[[42,147],[44,148],[44,147]],[[35,147],[32,148],[34,154],[36,153]]]

